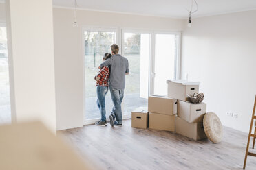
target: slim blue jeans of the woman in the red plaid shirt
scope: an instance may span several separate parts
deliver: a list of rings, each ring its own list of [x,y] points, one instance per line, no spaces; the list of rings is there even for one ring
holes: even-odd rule
[[[105,95],[108,90],[106,86],[97,86],[97,106],[100,109],[101,121],[106,121]]]

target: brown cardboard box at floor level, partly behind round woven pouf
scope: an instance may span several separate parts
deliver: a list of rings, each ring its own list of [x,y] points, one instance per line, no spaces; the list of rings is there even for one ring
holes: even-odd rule
[[[189,123],[177,116],[175,120],[175,131],[176,133],[182,134],[183,136],[193,138],[195,141],[207,138],[202,122]]]

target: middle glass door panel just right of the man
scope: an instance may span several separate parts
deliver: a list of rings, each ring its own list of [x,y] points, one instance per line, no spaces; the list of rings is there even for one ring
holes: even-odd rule
[[[126,76],[123,114],[131,114],[134,108],[146,106],[149,95],[149,58],[151,34],[122,32],[122,56],[129,61]]]

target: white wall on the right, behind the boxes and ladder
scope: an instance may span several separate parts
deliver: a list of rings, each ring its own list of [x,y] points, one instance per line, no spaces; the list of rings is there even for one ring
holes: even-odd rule
[[[244,132],[256,94],[255,18],[256,10],[192,19],[182,36],[182,77],[199,80],[207,110]]]

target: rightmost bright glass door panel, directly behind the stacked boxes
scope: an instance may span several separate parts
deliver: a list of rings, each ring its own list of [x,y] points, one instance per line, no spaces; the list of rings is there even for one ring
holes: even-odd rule
[[[167,95],[167,80],[179,76],[180,34],[154,34],[151,94]]]

